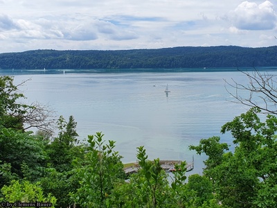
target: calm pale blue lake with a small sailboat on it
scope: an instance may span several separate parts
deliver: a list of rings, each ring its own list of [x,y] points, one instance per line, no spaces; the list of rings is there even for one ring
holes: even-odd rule
[[[194,155],[192,173],[201,173],[205,157],[197,156],[188,146],[213,136],[231,144],[231,135],[222,135],[221,126],[246,112],[244,105],[228,101],[231,96],[226,92],[224,79],[248,82],[235,69],[117,73],[1,69],[0,74],[15,76],[15,83],[31,78],[21,87],[29,104],[48,104],[66,120],[73,115],[80,140],[96,132],[104,133],[105,140],[116,141],[116,150],[124,163],[135,162],[136,147],[145,146],[149,159],[190,162]]]

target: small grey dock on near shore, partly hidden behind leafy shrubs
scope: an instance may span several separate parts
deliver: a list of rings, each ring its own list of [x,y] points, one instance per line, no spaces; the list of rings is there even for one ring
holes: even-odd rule
[[[175,164],[181,164],[180,160],[160,160],[161,168],[163,168],[164,171],[169,171],[170,169],[173,170],[175,168]],[[125,168],[124,171],[127,175],[130,175],[132,173],[137,173],[139,171],[139,163],[134,162],[134,166]],[[194,168],[194,159],[193,162],[188,162],[186,164],[187,172],[193,171]]]

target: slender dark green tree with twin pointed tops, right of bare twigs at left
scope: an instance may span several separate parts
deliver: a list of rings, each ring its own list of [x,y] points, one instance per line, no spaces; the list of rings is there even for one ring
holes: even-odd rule
[[[85,148],[83,145],[78,145],[77,123],[73,116],[69,116],[69,121],[60,116],[57,124],[60,132],[46,146],[48,168],[44,171],[44,177],[40,182],[45,192],[52,193],[57,198],[58,207],[68,207],[73,205],[69,192],[80,187],[72,162],[75,158],[84,159]]]

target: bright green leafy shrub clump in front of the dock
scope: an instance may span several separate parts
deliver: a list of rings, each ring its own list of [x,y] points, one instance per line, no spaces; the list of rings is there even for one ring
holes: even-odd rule
[[[136,156],[139,170],[130,175],[129,182],[116,186],[109,198],[112,207],[201,207],[201,203],[197,206],[196,191],[186,185],[186,162],[175,165],[170,186],[159,159],[150,161],[143,146]]]

